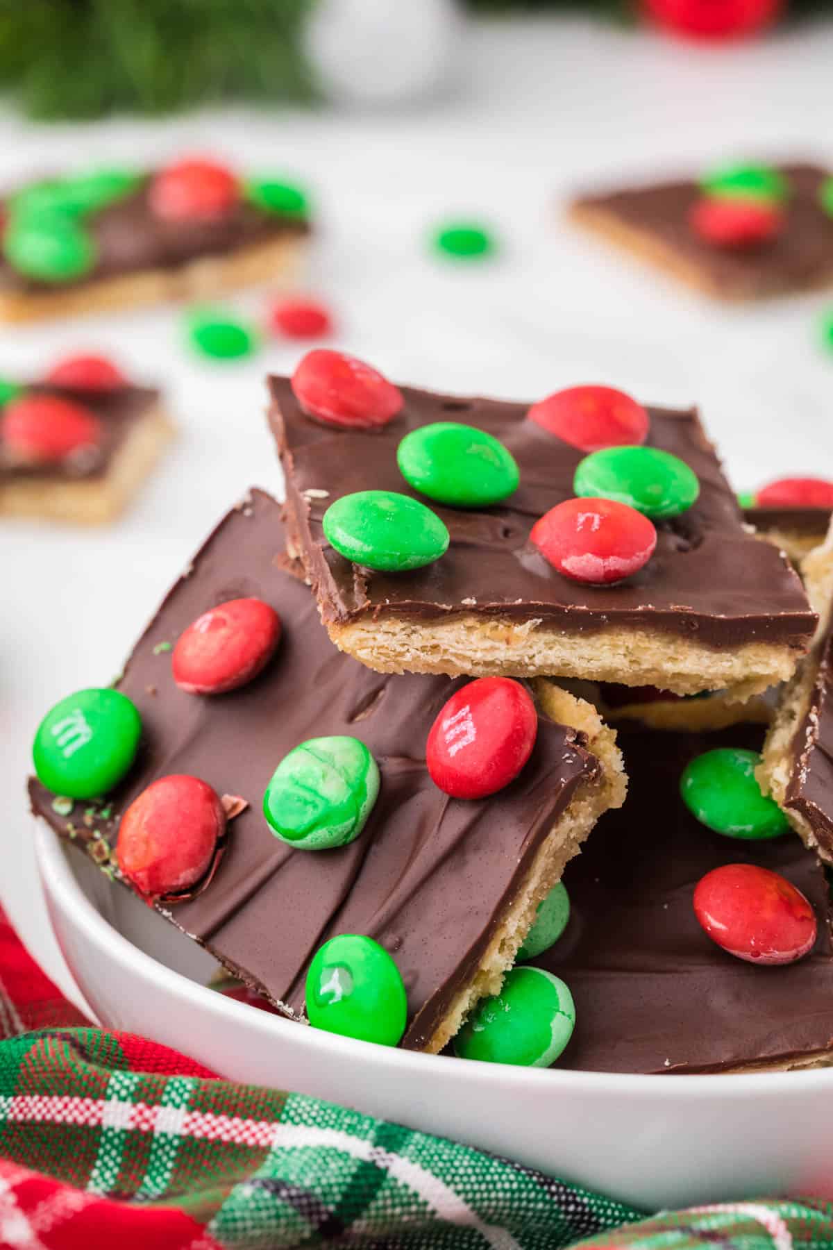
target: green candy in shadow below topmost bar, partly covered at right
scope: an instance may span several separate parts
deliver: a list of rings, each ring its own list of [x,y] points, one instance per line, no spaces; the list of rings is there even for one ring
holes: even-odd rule
[[[757,751],[718,746],[691,760],[679,781],[683,802],[702,825],[749,841],[779,838],[789,829],[783,811],[761,792]]]

